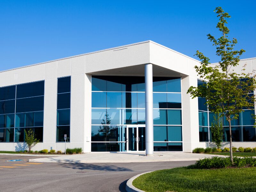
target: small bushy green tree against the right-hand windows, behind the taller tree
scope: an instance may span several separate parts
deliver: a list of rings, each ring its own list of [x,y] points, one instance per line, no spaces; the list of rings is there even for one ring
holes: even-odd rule
[[[212,132],[212,142],[214,142],[217,145],[217,148],[221,147],[221,142],[223,140],[223,126],[222,121],[219,121],[219,118],[216,116],[213,116],[214,121],[211,126],[211,132]]]

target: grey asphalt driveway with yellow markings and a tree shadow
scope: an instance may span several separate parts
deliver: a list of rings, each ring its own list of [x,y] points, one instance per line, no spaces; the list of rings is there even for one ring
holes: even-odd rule
[[[31,158],[35,157],[0,156],[1,192],[125,191],[126,181],[134,175],[195,163],[195,161],[95,164],[28,162]]]

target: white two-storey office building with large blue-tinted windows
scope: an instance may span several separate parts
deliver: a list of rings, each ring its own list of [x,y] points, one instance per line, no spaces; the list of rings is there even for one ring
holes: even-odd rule
[[[33,150],[63,151],[67,134],[67,147],[83,152],[144,151],[146,64],[153,67],[154,151],[214,146],[212,113],[204,98],[187,94],[202,83],[194,69],[199,63],[145,41],[2,71],[0,150],[24,150],[24,131],[32,129],[40,141]],[[256,68],[252,58],[235,70],[245,63],[248,72]],[[256,145],[251,114],[245,110],[232,122],[236,147]]]

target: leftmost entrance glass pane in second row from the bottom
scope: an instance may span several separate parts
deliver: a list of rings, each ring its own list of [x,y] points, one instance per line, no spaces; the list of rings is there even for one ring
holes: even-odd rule
[[[92,125],[92,141],[107,141],[107,125]]]

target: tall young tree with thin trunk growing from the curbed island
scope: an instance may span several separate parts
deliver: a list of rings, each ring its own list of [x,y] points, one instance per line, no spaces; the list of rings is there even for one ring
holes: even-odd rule
[[[238,65],[239,58],[245,51],[234,50],[236,38],[228,39],[229,29],[225,26],[226,19],[230,18],[228,13],[224,12],[221,7],[217,7],[214,12],[219,18],[216,28],[221,32],[221,36],[218,39],[211,34],[207,36],[216,46],[216,55],[220,57],[220,61],[216,66],[211,66],[209,65],[210,59],[202,52],[196,51],[196,56],[201,60],[200,65],[195,66],[196,72],[200,79],[208,83],[198,87],[191,86],[188,93],[192,98],[205,97],[209,110],[220,114],[219,117],[224,116],[228,121],[230,160],[233,164],[231,121],[237,119],[243,109],[254,107],[255,97],[248,93],[256,88],[256,82],[254,74],[244,73],[245,66],[241,73],[234,72],[233,67]]]

